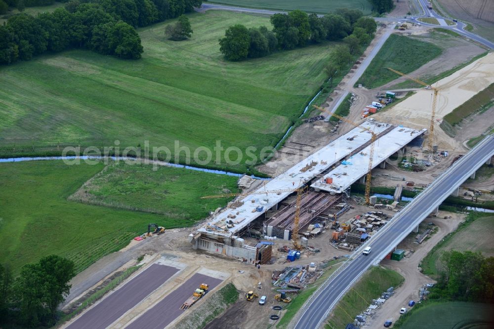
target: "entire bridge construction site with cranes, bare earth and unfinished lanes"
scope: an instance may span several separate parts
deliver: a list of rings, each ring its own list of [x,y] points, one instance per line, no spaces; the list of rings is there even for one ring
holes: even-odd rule
[[[466,152],[464,144],[437,126],[442,117],[481,90],[478,84],[470,85],[474,73],[485,80],[482,84],[492,82],[492,75],[484,71],[492,72],[493,59],[493,54],[487,55],[440,81],[441,94],[434,86],[419,82],[422,87],[415,88],[416,94],[396,105],[393,102],[407,91],[357,89],[352,84],[351,91],[360,98],[352,103],[348,118],[335,115],[336,123],[328,123],[327,114],[334,103],[315,107],[323,113],[306,119],[276,156],[260,166],[272,179],[245,175],[238,181],[242,192],[205,195],[203,198],[234,199],[210,209],[210,215],[193,228],[165,230],[150,224],[147,233],[120,251],[123,258],[145,254],[140,262],[125,258],[127,263],[119,264],[143,269],[64,328],[275,325],[286,314],[282,307],[317,280],[329,277],[352,252],[386,228],[406,205],[403,201],[412,200],[402,198],[403,191],[420,193]],[[410,77],[402,75],[404,78]],[[332,96],[336,98],[336,94],[338,91]],[[431,131],[434,125],[436,129]],[[478,135],[475,129],[468,127],[469,138]],[[403,154],[412,156],[403,158]],[[371,180],[373,187],[394,189],[394,195],[371,194]],[[468,184],[460,192],[465,200],[494,199],[490,195],[492,178],[480,185]],[[357,192],[357,187],[365,191]],[[440,212],[431,222],[424,221],[420,231],[417,226],[417,232],[411,234],[413,239],[409,237],[387,254],[383,264],[396,268],[405,264],[413,277],[417,258],[463,218],[463,214],[451,218],[450,213]],[[95,265],[106,266],[103,260]],[[394,298],[403,294],[405,300],[409,290],[418,292],[414,280],[398,292],[390,288],[380,298],[375,296],[355,324],[371,323],[376,310],[384,313],[391,307],[385,301],[393,294]],[[420,274],[419,287],[427,280]],[[223,305],[218,292],[228,284],[237,289],[239,300]],[[98,285],[102,286],[103,280]],[[420,297],[425,294],[420,293]],[[263,308],[264,303],[268,307]],[[223,308],[217,308],[218,304]],[[207,324],[205,319],[214,320]],[[382,323],[380,318],[374,321],[375,328]]]

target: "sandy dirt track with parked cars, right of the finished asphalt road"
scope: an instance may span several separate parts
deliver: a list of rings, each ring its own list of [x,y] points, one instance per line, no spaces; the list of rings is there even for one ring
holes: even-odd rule
[[[439,218],[444,217],[446,214],[451,215],[453,218]],[[447,234],[456,229],[463,218],[463,215],[440,212],[438,214],[438,218],[431,220],[439,227],[439,231],[429,240],[423,242],[421,245],[418,245],[419,247],[415,247],[415,251],[409,257],[404,258],[399,262],[390,259],[384,259],[381,262],[381,265],[384,267],[391,268],[403,275],[405,277],[405,283],[400,288],[396,289],[395,294],[390,297],[380,309],[378,309],[372,319],[368,319],[367,325],[369,328],[382,328],[382,325],[388,319],[395,322],[400,316],[400,308],[410,308],[408,306],[408,302],[410,300],[414,300],[415,302],[419,300],[418,292],[420,287],[426,283],[435,282],[418,271],[418,264],[422,258],[427,255],[429,250],[432,249],[432,247],[441,241],[441,239],[443,239]],[[409,250],[410,246],[410,242],[408,242],[408,244],[405,242],[400,244],[398,248]]]

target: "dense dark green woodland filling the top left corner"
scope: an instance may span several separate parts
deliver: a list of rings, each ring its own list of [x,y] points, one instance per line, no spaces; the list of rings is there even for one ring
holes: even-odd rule
[[[21,0],[8,1],[18,5]],[[70,0],[52,13],[13,15],[0,26],[0,64],[69,47],[137,59],[143,47],[135,27],[178,17],[201,4],[202,0]]]

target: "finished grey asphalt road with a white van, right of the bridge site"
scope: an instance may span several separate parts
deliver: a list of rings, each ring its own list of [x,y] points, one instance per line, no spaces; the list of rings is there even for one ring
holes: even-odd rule
[[[302,314],[296,329],[314,329],[318,328],[320,323],[324,321],[328,315],[328,312],[334,304],[341,298],[343,293],[356,281],[356,279],[365,272],[372,263],[380,261],[383,257],[382,252],[389,249],[396,239],[398,239],[404,231],[411,232],[413,229],[413,222],[417,219],[425,218],[429,213],[425,213],[426,209],[432,206],[438,206],[441,204],[451,192],[449,192],[452,186],[459,186],[463,181],[461,178],[472,170],[472,168],[479,168],[486,161],[486,156],[494,154],[494,135],[488,137],[489,140],[480,147],[474,148],[467,153],[462,159],[458,161],[452,167],[448,169],[448,172],[444,174],[444,179],[439,178],[434,185],[431,185],[425,189],[422,194],[423,197],[415,199],[415,204],[408,209],[407,212],[400,212],[399,217],[391,222],[388,228],[378,236],[374,242],[370,244],[371,254],[364,256],[363,254],[357,256],[351,263],[343,269],[338,275],[336,275],[330,282],[327,288],[323,289],[321,293],[309,304],[307,310]],[[460,181],[461,180],[461,181]],[[422,195],[421,194],[421,195]],[[381,259],[379,259],[381,258]]]

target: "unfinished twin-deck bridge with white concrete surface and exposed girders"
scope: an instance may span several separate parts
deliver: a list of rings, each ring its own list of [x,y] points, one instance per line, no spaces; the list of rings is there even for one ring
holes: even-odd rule
[[[238,195],[206,218],[189,240],[195,249],[260,264],[271,261],[269,245],[248,242],[245,237],[293,239],[297,244],[300,237],[300,246],[307,247],[310,236],[332,226],[349,209],[353,183],[364,183],[372,168],[385,167],[386,159],[403,152],[426,131],[373,119],[358,124],[286,172]],[[233,195],[205,198],[228,196]],[[366,233],[365,227],[359,229]]]

